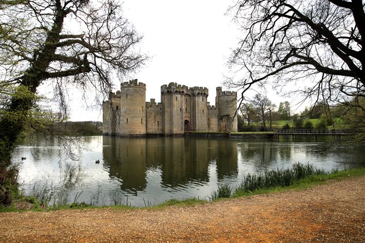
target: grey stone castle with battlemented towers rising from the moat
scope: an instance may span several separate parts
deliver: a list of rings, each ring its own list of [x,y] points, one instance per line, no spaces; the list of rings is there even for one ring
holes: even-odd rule
[[[181,135],[186,131],[237,132],[237,94],[217,87],[216,105],[206,87],[176,83],[161,86],[161,103],[146,102],[146,85],[121,83],[103,102],[103,134],[110,136]]]

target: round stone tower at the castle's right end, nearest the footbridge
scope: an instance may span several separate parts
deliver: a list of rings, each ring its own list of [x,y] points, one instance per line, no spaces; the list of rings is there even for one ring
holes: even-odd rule
[[[220,132],[237,132],[237,93],[217,87],[216,106]]]

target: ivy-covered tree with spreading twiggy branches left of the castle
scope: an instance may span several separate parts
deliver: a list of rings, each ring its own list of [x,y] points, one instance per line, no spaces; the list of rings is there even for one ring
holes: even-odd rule
[[[111,72],[125,75],[146,60],[141,38],[114,0],[0,0],[1,87],[12,90],[2,96],[0,158],[32,117],[41,84],[55,88],[64,112],[68,85],[107,94]]]

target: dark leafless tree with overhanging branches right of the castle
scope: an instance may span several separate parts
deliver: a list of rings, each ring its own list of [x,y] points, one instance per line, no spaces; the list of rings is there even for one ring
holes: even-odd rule
[[[363,0],[243,0],[231,11],[244,35],[230,64],[244,75],[227,84],[242,88],[241,100],[268,82],[279,92],[292,84],[288,93],[314,101],[365,96]]]

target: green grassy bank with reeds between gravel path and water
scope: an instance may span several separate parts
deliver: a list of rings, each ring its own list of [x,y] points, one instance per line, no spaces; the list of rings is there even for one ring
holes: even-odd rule
[[[222,198],[236,198],[257,194],[270,194],[278,191],[304,190],[317,185],[328,183],[329,180],[343,180],[365,175],[365,167],[358,169],[334,170],[326,172],[322,169],[314,168],[310,164],[294,164],[291,168],[267,171],[261,174],[247,174],[241,184],[236,188],[228,184],[223,184],[217,190],[212,191],[210,201],[200,198],[189,198],[184,200],[171,199],[157,206],[148,202],[144,208],[165,208],[167,206],[195,206],[199,204],[211,203],[222,200]],[[116,206],[92,206],[85,202],[78,203],[75,198],[72,204],[51,203],[45,207],[42,200],[35,197],[26,197],[21,194],[14,195],[14,203],[9,207],[0,207],[0,212],[9,211],[45,211],[59,209],[83,209],[83,208],[114,208],[116,210],[141,209],[126,205]]]

